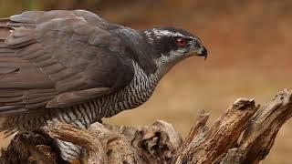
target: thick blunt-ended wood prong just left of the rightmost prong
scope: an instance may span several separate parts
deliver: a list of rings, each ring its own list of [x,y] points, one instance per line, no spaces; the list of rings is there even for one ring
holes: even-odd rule
[[[185,148],[177,153],[172,163],[212,163],[220,158],[228,149],[235,146],[240,134],[248,125],[257,110],[254,100],[240,98],[228,108],[222,117],[218,118],[211,128],[202,127],[201,132],[189,135]],[[200,124],[205,119],[199,119],[195,124]],[[191,131],[191,134],[193,131]],[[191,142],[189,140],[192,140]]]

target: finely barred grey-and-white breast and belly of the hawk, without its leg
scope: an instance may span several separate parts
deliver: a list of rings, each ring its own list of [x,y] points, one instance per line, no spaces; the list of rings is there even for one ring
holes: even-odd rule
[[[137,108],[151,97],[159,75],[147,76],[141,67],[133,62],[135,75],[130,85],[107,97],[100,97],[70,108],[59,109],[58,118],[79,127],[87,127],[104,117],[111,117],[125,109]]]

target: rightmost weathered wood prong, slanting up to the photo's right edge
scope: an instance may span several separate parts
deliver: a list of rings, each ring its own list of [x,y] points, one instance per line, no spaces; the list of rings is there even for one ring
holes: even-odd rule
[[[285,89],[255,113],[238,148],[225,159],[237,156],[241,158],[236,163],[259,163],[273,147],[279,128],[291,117],[292,92]]]

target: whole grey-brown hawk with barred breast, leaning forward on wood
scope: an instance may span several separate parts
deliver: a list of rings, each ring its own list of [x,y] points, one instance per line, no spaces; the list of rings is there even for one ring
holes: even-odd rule
[[[0,131],[54,119],[88,128],[143,104],[190,56],[206,57],[207,50],[197,36],[170,26],[134,30],[84,10],[0,19]],[[57,143],[63,159],[78,159],[78,146]]]

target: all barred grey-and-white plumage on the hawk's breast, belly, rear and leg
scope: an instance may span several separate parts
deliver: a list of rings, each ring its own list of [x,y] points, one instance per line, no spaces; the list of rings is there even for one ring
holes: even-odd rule
[[[88,128],[90,124],[100,121],[101,118],[111,117],[122,110],[140,106],[151,97],[161,76],[156,73],[149,77],[137,63],[133,63],[133,66],[135,74],[130,85],[120,91],[106,97],[85,101],[69,108],[51,108],[42,117],[33,113],[10,117],[9,121],[5,121],[5,127],[9,127],[5,128],[6,135],[13,134],[16,128],[19,130],[45,126],[47,125],[46,120],[52,119],[74,124],[80,128]],[[78,96],[83,94],[87,94],[86,91],[78,93]],[[19,125],[20,122],[21,125]],[[82,148],[66,141],[57,140],[57,144],[61,149],[63,159],[74,160],[82,152]]]

